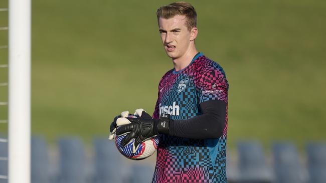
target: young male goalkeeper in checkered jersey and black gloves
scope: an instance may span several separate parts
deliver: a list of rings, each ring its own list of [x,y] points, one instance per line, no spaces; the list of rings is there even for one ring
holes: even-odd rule
[[[197,14],[190,3],[161,6],[156,14],[174,68],[158,84],[153,118],[142,111],[139,118],[126,118],[129,124],[118,124],[116,131],[113,122],[111,132],[129,132],[121,143],[135,138],[135,146],[160,135],[152,182],[227,182],[225,72],[197,51]]]

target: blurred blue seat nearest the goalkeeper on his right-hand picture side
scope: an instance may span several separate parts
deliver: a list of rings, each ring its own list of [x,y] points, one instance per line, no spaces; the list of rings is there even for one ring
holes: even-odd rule
[[[272,182],[270,169],[267,167],[262,147],[257,141],[238,143],[239,173],[241,183]]]

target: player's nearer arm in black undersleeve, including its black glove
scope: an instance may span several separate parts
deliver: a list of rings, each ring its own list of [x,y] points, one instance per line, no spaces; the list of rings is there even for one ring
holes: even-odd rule
[[[208,100],[200,104],[202,115],[187,120],[172,120],[169,114],[162,113],[158,119],[152,118],[143,109],[137,109],[137,118],[120,117],[117,119],[116,135],[128,133],[121,145],[135,138],[137,147],[145,139],[157,134],[167,134],[185,138],[219,138],[225,122],[226,103],[222,100]]]

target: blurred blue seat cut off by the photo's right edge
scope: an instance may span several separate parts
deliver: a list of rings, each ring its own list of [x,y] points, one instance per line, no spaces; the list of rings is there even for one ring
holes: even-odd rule
[[[326,144],[309,143],[306,147],[310,183],[326,182]]]

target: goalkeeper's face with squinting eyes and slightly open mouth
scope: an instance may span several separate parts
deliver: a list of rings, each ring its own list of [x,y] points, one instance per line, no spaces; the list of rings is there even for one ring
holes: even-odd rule
[[[169,57],[177,59],[191,49],[191,44],[197,36],[197,28],[189,30],[186,25],[185,15],[176,15],[166,19],[159,17],[159,33],[164,48]]]

